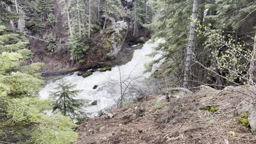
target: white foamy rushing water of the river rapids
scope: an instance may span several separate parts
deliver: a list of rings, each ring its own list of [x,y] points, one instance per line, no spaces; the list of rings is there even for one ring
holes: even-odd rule
[[[94,72],[93,75],[83,78],[82,76],[69,75],[63,77],[69,82],[73,84],[77,84],[77,90],[82,90],[81,93],[77,95],[77,99],[86,99],[90,100],[89,104],[94,100],[98,101],[98,105],[96,106],[87,106],[85,107],[85,111],[87,113],[96,114],[99,110],[105,109],[107,107],[113,106],[116,102],[116,99],[121,95],[121,89],[116,82],[120,81],[119,69],[121,71],[122,79],[130,78],[127,82],[130,82],[131,79],[137,78],[143,79],[147,78],[151,75],[151,73],[143,74],[145,71],[145,63],[149,63],[157,58],[160,55],[156,55],[153,57],[148,57],[147,54],[154,52],[154,47],[161,42],[158,40],[155,43],[147,42],[143,45],[142,49],[135,50],[133,54],[133,58],[130,62],[125,65],[118,67],[113,67],[111,71],[106,72]],[[136,80],[138,80],[136,79]],[[132,83],[138,83],[138,81],[132,81]],[[39,95],[41,99],[47,99],[49,97],[49,91],[54,91],[54,87],[56,87],[56,83],[58,81],[47,84],[40,92]],[[93,86],[98,85],[97,89],[93,90]]]

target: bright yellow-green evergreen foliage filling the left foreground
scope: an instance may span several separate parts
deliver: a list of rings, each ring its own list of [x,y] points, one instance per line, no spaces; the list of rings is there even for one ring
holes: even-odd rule
[[[12,35],[12,36],[11,36]],[[11,36],[11,37],[10,37]],[[32,57],[19,34],[0,26],[0,137],[4,143],[69,143],[76,141],[76,127],[70,118],[61,114],[47,116],[49,100],[40,100],[43,85],[40,70],[43,63],[21,66]]]

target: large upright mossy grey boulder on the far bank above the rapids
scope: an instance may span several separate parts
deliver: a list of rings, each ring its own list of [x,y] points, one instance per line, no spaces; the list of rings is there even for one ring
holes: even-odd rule
[[[102,47],[104,47],[109,57],[116,56],[121,51],[124,40],[127,36],[128,26],[124,21],[111,22],[102,35]]]

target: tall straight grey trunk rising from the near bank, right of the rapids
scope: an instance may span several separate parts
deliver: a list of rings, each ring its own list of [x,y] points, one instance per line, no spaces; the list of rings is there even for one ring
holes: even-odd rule
[[[195,28],[196,23],[194,20],[197,19],[197,13],[198,13],[198,3],[199,0],[194,0],[193,3],[193,11],[192,11],[192,19],[190,23],[190,31],[189,31],[189,38],[188,38],[188,47],[187,47],[187,57],[186,57],[186,63],[185,63],[185,74],[183,79],[183,87],[188,88],[188,81],[190,80],[190,66],[191,61],[193,60],[193,51],[195,46]]]

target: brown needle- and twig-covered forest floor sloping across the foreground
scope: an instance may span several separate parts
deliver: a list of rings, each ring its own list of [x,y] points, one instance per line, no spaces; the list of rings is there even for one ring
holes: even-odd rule
[[[148,96],[110,111],[114,118],[95,117],[78,127],[76,143],[256,143],[256,133],[237,121],[237,105],[255,87],[203,86],[188,94]],[[177,97],[178,96],[178,97]],[[207,111],[205,108],[217,108]]]

